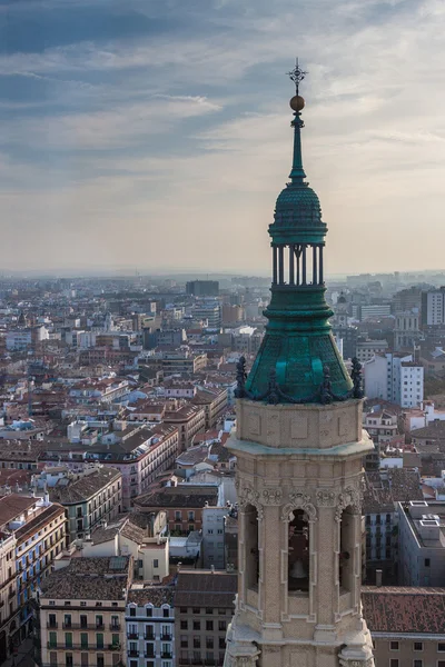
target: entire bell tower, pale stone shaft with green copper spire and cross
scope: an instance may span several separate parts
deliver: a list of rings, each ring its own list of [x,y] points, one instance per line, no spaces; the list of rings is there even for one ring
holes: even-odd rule
[[[362,616],[360,367],[346,371],[325,300],[326,225],[301,162],[298,87],[290,182],[269,227],[271,300],[250,374],[238,365],[239,586],[225,667],[374,667]]]

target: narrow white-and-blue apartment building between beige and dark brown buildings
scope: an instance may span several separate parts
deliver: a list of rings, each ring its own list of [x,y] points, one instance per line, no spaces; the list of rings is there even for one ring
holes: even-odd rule
[[[126,610],[128,667],[175,666],[174,596],[174,586],[131,586]]]

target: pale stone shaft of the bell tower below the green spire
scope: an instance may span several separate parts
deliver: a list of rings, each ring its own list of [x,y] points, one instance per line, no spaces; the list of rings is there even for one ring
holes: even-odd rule
[[[227,446],[237,457],[240,583],[225,667],[255,667],[259,655],[261,667],[373,666],[359,604],[362,459],[373,447],[360,401],[240,400],[238,412]],[[290,587],[296,516],[308,571]]]

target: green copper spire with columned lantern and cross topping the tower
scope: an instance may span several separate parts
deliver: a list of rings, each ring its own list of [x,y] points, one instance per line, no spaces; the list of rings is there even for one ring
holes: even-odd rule
[[[298,68],[296,77],[301,74]],[[303,72],[304,73],[304,72]],[[294,80],[294,79],[293,79]],[[290,182],[277,199],[271,237],[274,276],[266,335],[247,378],[239,368],[238,396],[273,402],[329,402],[359,397],[330,332],[323,253],[327,226],[316,192],[305,181],[301,162],[303,98],[295,111]]]

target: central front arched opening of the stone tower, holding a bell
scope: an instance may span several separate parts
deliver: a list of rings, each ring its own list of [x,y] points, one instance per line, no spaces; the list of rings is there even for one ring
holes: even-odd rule
[[[303,509],[289,517],[288,575],[289,591],[309,590],[309,522]]]

